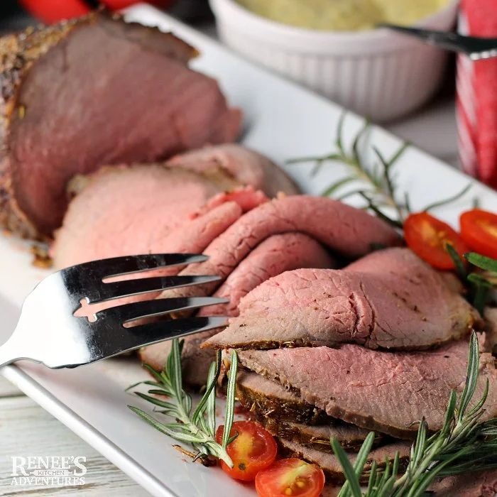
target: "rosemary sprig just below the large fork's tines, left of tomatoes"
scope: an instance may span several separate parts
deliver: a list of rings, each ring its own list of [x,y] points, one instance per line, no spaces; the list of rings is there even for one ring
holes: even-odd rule
[[[207,389],[202,395],[200,402],[195,410],[192,408],[192,396],[185,392],[182,387],[181,373],[181,349],[182,343],[178,339],[173,340],[173,346],[165,362],[163,371],[158,373],[148,364],[143,366],[155,378],[155,381],[141,381],[129,386],[126,390],[135,388],[138,385],[152,386],[148,393],[136,391],[138,397],[147,400],[151,404],[161,408],[155,410],[155,413],[160,413],[173,418],[171,422],[160,422],[145,411],[129,405],[128,407],[141,416],[143,420],[152,425],[156,430],[169,435],[179,442],[191,444],[197,451],[198,457],[214,456],[222,459],[230,467],[233,466],[231,457],[226,452],[226,445],[231,443],[234,437],[229,437],[231,425],[234,417],[235,403],[235,381],[236,370],[238,367],[238,357],[236,351],[231,353],[231,368],[229,373],[229,383],[226,398],[225,420],[226,427],[224,433],[228,434],[223,437],[222,444],[216,442],[216,385],[221,371],[221,351],[217,351],[216,361],[209,368],[207,377]],[[163,395],[168,397],[168,400],[163,400],[152,395]]]

